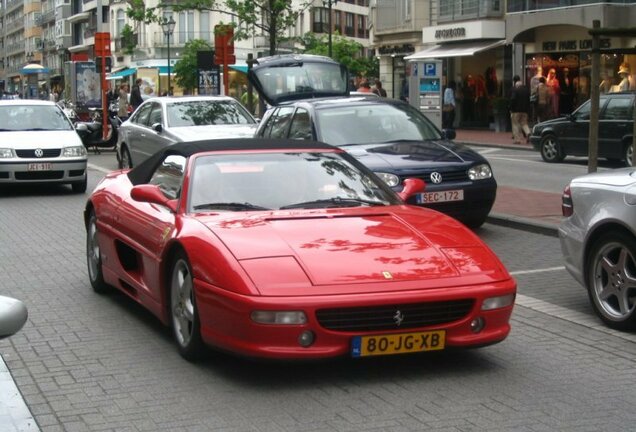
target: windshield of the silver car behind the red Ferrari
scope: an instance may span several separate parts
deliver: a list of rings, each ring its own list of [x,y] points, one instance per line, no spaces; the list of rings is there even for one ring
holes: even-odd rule
[[[167,110],[168,127],[255,123],[242,105],[228,100],[175,102]]]

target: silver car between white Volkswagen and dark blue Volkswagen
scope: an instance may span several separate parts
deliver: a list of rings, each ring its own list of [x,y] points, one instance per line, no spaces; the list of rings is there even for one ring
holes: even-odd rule
[[[176,142],[253,137],[257,121],[227,96],[155,97],[119,127],[117,160],[132,168]]]

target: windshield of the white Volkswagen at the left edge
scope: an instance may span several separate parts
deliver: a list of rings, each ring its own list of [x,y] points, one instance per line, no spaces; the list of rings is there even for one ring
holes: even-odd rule
[[[73,130],[73,125],[57,105],[0,106],[1,131]]]

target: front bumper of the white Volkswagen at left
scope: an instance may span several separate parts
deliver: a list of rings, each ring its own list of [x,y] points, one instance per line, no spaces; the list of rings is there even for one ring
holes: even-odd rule
[[[79,182],[86,177],[86,168],[86,158],[3,160],[0,161],[0,184]]]

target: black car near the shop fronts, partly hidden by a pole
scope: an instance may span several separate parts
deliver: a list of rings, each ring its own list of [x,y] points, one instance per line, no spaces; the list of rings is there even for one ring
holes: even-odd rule
[[[608,93],[599,98],[598,156],[632,164],[634,98],[636,93]],[[587,156],[590,136],[590,101],[572,114],[536,124],[530,143],[546,162],[561,162],[566,156]]]

